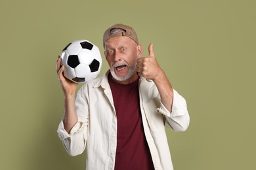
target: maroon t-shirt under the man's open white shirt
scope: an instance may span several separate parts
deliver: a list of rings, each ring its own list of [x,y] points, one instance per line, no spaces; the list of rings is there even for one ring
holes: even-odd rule
[[[117,115],[115,170],[154,169],[144,135],[139,103],[139,79],[119,84],[108,78]]]

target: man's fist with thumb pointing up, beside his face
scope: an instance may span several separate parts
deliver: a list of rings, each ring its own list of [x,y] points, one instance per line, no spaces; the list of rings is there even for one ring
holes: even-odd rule
[[[148,46],[148,56],[137,59],[137,72],[139,76],[154,80],[161,71],[161,67],[158,65],[158,61],[156,61],[153,44],[150,43]]]

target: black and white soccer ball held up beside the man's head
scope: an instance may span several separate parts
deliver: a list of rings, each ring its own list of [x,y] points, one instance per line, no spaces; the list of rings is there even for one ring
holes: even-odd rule
[[[100,73],[100,50],[87,40],[71,42],[62,50],[60,58],[61,65],[65,65],[64,76],[73,82],[87,82]]]

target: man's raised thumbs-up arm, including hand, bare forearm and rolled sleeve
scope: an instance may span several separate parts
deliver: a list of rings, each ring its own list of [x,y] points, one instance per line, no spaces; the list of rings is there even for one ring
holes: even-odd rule
[[[148,46],[148,52],[148,57],[137,60],[137,72],[139,76],[150,79],[156,84],[161,99],[158,112],[165,116],[165,125],[175,131],[184,131],[190,122],[186,101],[173,90],[167,76],[158,65],[152,44]]]

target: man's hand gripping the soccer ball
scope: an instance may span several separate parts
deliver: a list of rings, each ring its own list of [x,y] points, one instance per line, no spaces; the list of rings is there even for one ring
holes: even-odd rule
[[[74,95],[75,94],[75,90],[77,90],[77,86],[78,84],[75,82],[72,82],[70,80],[68,80],[68,78],[66,78],[63,75],[63,71],[64,71],[64,65],[60,65],[60,63],[62,62],[62,58],[60,58],[60,56],[58,56],[58,60],[56,63],[56,72],[58,74],[58,80],[60,81],[60,85],[62,87],[62,90],[64,92],[64,95]]]

